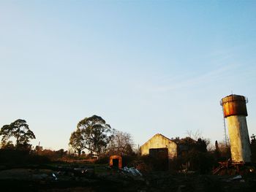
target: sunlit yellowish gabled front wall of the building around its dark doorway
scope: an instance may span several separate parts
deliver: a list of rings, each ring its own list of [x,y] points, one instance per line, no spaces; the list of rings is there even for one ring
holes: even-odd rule
[[[154,137],[148,140],[144,145],[140,147],[141,155],[148,155],[149,149],[164,148],[168,149],[168,157],[173,158],[177,156],[177,144],[170,139],[156,134]]]

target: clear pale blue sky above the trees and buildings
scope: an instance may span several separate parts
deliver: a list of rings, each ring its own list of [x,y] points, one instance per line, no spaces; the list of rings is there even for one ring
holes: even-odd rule
[[[99,115],[143,145],[154,134],[223,141],[219,101],[248,97],[256,134],[256,1],[0,0],[0,127],[24,119],[68,149]]]

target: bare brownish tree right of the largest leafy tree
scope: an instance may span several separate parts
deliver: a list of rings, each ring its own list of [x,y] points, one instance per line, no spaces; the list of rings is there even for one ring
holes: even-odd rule
[[[133,153],[132,147],[134,146],[132,136],[116,129],[113,129],[112,134],[113,137],[110,139],[108,152],[118,155],[131,155]]]

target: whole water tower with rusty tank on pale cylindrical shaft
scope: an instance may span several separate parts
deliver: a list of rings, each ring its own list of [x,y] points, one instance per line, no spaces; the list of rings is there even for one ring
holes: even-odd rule
[[[220,101],[230,136],[231,158],[233,162],[251,162],[249,134],[246,123],[245,96],[230,95]]]

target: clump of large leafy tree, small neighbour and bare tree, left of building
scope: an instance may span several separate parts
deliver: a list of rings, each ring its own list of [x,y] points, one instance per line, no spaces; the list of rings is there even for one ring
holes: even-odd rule
[[[111,128],[97,115],[80,120],[70,136],[69,145],[76,150],[78,156],[82,150],[97,156],[102,153],[126,155],[133,152],[131,135]]]

